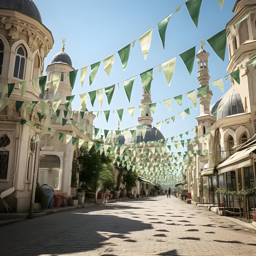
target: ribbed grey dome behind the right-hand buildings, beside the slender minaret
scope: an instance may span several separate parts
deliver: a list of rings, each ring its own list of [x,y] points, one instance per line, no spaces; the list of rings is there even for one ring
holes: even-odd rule
[[[220,109],[218,110],[219,107]],[[211,115],[216,117],[217,120],[241,113],[244,113],[242,99],[240,94],[232,88],[229,89],[211,108]]]

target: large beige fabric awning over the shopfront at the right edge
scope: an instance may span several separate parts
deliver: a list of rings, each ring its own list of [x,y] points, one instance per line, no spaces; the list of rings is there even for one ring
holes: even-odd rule
[[[256,150],[256,146],[250,146],[243,150],[235,152],[227,160],[218,165],[218,174],[234,171],[237,168],[252,165],[252,151]]]

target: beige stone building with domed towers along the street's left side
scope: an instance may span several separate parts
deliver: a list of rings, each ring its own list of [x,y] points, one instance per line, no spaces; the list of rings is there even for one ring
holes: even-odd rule
[[[7,101],[7,90],[11,92],[7,105],[0,111],[0,191],[14,188],[14,193],[4,198],[16,212],[27,211],[33,203],[36,181],[49,184],[54,191],[71,196],[76,192],[76,168],[79,165],[78,141],[72,139],[59,142],[58,132],[72,137],[91,140],[93,114],[83,118],[80,112],[68,107],[67,119],[63,126],[65,97],[72,94],[69,72],[74,70],[68,54],[57,53],[47,67],[45,94],[40,95],[38,83],[31,80],[43,76],[44,60],[54,43],[51,31],[43,25],[40,13],[32,0],[0,2],[0,95],[1,103]],[[61,74],[59,87],[53,93],[53,74]],[[22,81],[27,81],[22,92]],[[11,91],[10,88],[14,86]],[[21,93],[22,92],[22,93]],[[21,95],[23,94],[23,95]],[[58,106],[56,120],[52,116],[53,98],[63,97]],[[40,101],[49,99],[49,110],[39,120]],[[22,104],[16,112],[16,101]],[[34,102],[34,105],[32,105]],[[37,103],[36,103],[37,102]],[[36,111],[38,110],[38,111]],[[21,119],[26,120],[21,124]],[[76,121],[72,126],[71,120]],[[36,125],[36,124],[37,125]],[[79,124],[80,123],[80,124]],[[39,125],[38,125],[39,124]],[[79,124],[79,125],[78,125]],[[42,127],[56,130],[54,134],[43,131]],[[86,132],[81,132],[81,130]],[[72,173],[75,178],[72,181]],[[33,190],[33,191],[32,191]],[[32,195],[32,197],[31,197]],[[0,212],[5,212],[0,202]]]

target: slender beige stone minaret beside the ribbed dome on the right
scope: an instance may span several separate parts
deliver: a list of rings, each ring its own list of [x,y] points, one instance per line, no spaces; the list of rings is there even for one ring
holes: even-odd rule
[[[207,97],[204,98],[199,92],[197,94],[200,103],[200,116],[210,114],[210,103],[213,96],[212,91],[209,89],[210,76],[208,69],[208,57],[209,53],[203,49],[201,44],[201,49],[196,55],[198,61],[198,82],[200,84],[200,87],[204,85],[207,86]]]

